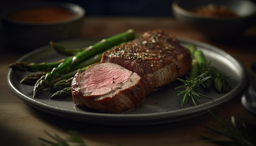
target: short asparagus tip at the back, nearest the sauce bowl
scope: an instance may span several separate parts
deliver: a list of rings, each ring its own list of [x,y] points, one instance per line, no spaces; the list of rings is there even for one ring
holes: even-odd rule
[[[62,46],[61,44],[58,44],[58,43],[52,42],[52,41],[50,41],[50,45],[52,46],[52,49],[54,49],[56,52],[66,55],[66,56],[76,55],[77,53],[88,48],[88,47],[83,47],[83,48],[76,48],[76,49],[68,49],[65,46]]]

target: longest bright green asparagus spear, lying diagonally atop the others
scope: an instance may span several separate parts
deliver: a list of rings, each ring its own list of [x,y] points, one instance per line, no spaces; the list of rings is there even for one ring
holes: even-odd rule
[[[33,97],[36,97],[42,93],[43,88],[49,84],[49,81],[52,80],[53,77],[56,77],[63,73],[67,67],[74,66],[78,64],[79,62],[88,59],[92,57],[93,55],[100,53],[102,51],[105,51],[112,46],[115,46],[117,44],[120,44],[121,42],[132,40],[135,38],[135,32],[132,29],[129,29],[128,31],[124,33],[119,33],[118,35],[114,35],[110,38],[106,38],[98,42],[97,44],[94,44],[92,46],[89,46],[84,51],[81,51],[77,55],[75,55],[73,58],[67,59],[65,62],[60,64],[58,67],[52,69],[51,72],[47,73],[46,75],[43,75],[35,84],[34,86],[34,95]]]

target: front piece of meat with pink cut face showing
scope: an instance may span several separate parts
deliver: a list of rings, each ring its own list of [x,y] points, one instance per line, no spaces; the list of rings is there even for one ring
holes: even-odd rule
[[[141,77],[115,63],[96,63],[77,72],[71,84],[77,106],[103,113],[122,113],[138,108],[146,96]]]

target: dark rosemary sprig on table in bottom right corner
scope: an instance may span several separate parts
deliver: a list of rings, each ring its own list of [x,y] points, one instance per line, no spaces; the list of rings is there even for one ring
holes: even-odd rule
[[[210,124],[217,126],[218,128],[213,128],[211,126],[205,127],[217,134],[223,135],[225,139],[216,139],[200,135],[205,142],[223,146],[256,146],[256,135],[250,130],[252,127],[249,127],[244,122],[236,124],[234,116],[231,116],[230,122],[225,122],[214,115],[211,111],[209,111],[209,113],[211,113],[211,115],[213,115],[213,117],[217,120],[216,123],[210,122]]]

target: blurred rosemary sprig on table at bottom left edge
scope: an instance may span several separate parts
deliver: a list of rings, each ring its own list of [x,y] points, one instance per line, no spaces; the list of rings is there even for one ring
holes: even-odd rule
[[[88,146],[77,131],[68,131],[70,136],[67,137],[66,139],[63,139],[62,137],[56,134],[51,135],[47,131],[44,132],[55,141],[38,137],[38,139],[40,140],[40,144],[42,146]]]

